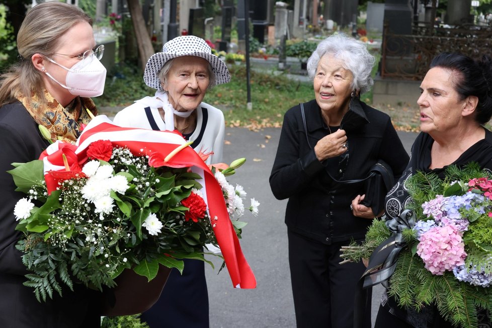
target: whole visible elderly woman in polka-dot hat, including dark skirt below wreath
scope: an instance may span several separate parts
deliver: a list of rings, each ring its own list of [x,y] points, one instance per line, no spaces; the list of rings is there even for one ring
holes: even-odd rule
[[[114,122],[124,127],[178,130],[194,141],[191,146],[197,152],[209,155],[208,164],[222,161],[224,115],[202,101],[208,88],[227,83],[230,74],[207,43],[192,35],[168,41],[162,52],[147,61],[143,80],[157,90],[155,96],[123,109]],[[208,328],[204,263],[185,260],[182,275],[173,270],[161,298],[141,318],[150,328]]]

